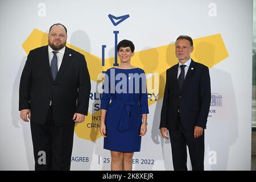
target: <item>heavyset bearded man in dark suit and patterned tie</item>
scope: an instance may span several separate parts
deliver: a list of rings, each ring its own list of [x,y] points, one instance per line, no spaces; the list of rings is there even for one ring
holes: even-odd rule
[[[85,57],[66,42],[67,28],[53,24],[48,46],[30,51],[20,78],[20,118],[31,121],[35,170],[70,170],[75,123],[88,112]]]

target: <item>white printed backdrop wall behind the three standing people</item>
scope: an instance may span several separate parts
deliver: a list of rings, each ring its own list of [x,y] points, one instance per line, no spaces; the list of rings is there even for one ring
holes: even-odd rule
[[[86,51],[85,56],[88,54],[86,60],[95,68],[89,70],[90,75],[106,70],[108,58],[113,61],[113,31],[119,31],[118,41],[134,42],[135,55],[139,55],[134,57],[138,60],[134,65],[148,74],[163,73],[176,63],[170,59],[174,57],[171,45],[177,36],[195,39],[192,58],[209,66],[212,88],[213,102],[205,131],[205,169],[250,170],[252,10],[251,0],[1,1],[0,169],[34,169],[30,125],[21,121],[18,111],[19,79],[27,57],[22,45],[35,28],[47,33],[53,23],[63,23],[68,29],[67,42]],[[114,26],[109,14],[130,17]],[[216,43],[216,39],[220,41]],[[32,40],[38,42],[34,37]],[[108,65],[99,69],[93,61],[101,63],[102,45],[106,45]],[[222,52],[218,50],[220,45]],[[149,50],[155,59],[146,55],[148,59],[143,60],[143,50]],[[90,100],[90,114],[96,113],[100,103],[96,87],[92,79],[95,97]],[[148,133],[142,138],[141,152],[134,155],[134,170],[173,169],[170,141],[164,141],[159,134],[161,106],[162,99],[150,104]],[[110,152],[103,149],[98,127],[85,126],[74,136],[71,169],[109,170]],[[88,132],[93,137],[83,137]]]

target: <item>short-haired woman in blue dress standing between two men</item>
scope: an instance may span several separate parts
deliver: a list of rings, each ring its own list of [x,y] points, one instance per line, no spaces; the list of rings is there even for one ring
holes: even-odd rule
[[[110,150],[112,170],[131,170],[134,152],[141,151],[147,132],[146,76],[130,64],[134,44],[122,40],[117,46],[120,64],[106,71],[101,98],[100,132]]]

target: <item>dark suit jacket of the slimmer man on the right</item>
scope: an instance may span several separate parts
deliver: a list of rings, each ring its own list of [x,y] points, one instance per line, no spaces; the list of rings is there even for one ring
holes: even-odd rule
[[[193,131],[195,126],[205,129],[211,99],[209,69],[205,65],[191,60],[183,87],[180,90],[177,81],[178,67],[179,64],[176,64],[166,71],[166,88],[160,128],[174,129],[180,109],[181,125],[185,130]]]

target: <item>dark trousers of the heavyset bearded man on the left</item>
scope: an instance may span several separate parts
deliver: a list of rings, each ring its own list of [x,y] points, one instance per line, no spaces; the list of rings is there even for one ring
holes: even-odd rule
[[[75,123],[55,126],[49,107],[44,125],[30,122],[35,170],[70,170]]]

